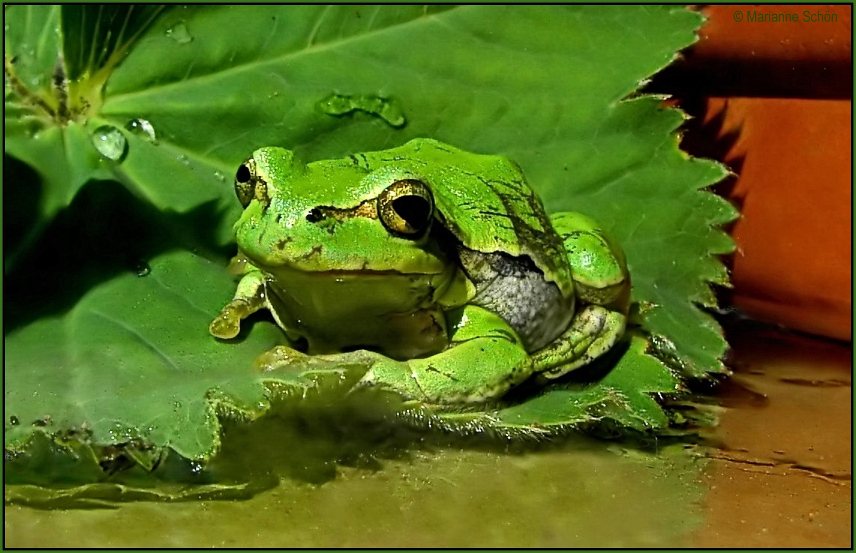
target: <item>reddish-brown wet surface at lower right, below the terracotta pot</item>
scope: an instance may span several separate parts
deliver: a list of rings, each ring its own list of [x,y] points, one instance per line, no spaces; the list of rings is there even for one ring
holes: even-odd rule
[[[731,326],[701,547],[852,547],[853,348]]]

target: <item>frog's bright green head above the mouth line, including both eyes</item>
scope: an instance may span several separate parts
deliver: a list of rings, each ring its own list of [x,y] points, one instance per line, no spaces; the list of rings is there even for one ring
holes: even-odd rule
[[[259,268],[437,274],[435,205],[413,160],[369,167],[360,155],[302,164],[265,147],[235,174],[241,251]]]

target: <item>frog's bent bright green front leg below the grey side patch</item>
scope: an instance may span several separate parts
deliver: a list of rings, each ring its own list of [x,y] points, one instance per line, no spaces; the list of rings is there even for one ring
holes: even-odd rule
[[[459,316],[461,323],[455,324]],[[449,327],[455,333],[448,349],[403,364],[377,363],[363,384],[380,384],[422,401],[463,403],[499,397],[532,374],[532,359],[520,337],[498,315],[464,306],[449,313]]]

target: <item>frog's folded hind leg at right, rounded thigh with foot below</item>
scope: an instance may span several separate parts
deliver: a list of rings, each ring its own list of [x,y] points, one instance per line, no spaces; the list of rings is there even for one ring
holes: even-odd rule
[[[578,306],[568,330],[532,354],[544,378],[561,377],[609,351],[624,335],[630,300],[624,254],[603,229],[579,213],[556,213],[551,221],[568,253]]]

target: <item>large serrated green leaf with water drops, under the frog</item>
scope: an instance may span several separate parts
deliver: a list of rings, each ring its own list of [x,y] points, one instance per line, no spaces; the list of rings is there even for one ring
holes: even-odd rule
[[[499,429],[605,419],[658,428],[668,419],[650,393],[723,370],[722,332],[698,305],[713,306],[710,283],[727,282],[715,255],[732,245],[717,225],[734,209],[704,190],[726,171],[680,152],[680,111],[664,109],[660,98],[633,98],[693,43],[697,13],[678,6],[134,10],[6,8],[14,79],[5,91],[5,149],[43,186],[43,224],[31,236],[87,181],[110,179],[179,217],[210,207],[220,217],[205,247],[216,248],[240,209],[231,174],[256,147],[288,146],[312,160],[431,137],[507,154],[548,211],[603,222],[627,252],[637,322],[650,336],[634,337],[596,382],[467,416]],[[60,51],[74,92],[62,116],[62,86],[46,76]],[[104,153],[104,139],[112,152]],[[33,244],[26,241],[21,255],[39,260]],[[213,403],[251,416],[264,410],[270,393],[249,367],[276,332],[256,324],[240,344],[207,336],[231,283],[187,255],[152,259],[149,277],[92,282],[68,312],[6,336],[8,444],[18,447],[33,430],[86,423],[97,443],[142,440],[199,458],[217,446]],[[19,282],[40,278],[21,277],[32,266],[17,269]],[[300,380],[282,378],[286,388]],[[128,401],[140,396],[152,401]],[[50,426],[31,425],[45,415]],[[464,416],[427,416],[435,415]]]

